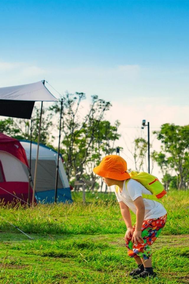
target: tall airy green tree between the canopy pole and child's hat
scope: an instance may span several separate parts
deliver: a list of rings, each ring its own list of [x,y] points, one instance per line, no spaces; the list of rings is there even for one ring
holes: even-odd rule
[[[81,117],[81,102],[85,99],[84,93],[75,93],[63,97],[63,126],[61,153],[65,159],[68,179],[82,179],[90,188],[96,186],[97,177],[92,168],[100,162],[102,155],[114,151],[110,142],[118,139],[119,122],[115,126],[103,120],[105,111],[110,109],[110,102],[92,96],[87,114]],[[56,103],[51,110],[59,113],[60,106]]]

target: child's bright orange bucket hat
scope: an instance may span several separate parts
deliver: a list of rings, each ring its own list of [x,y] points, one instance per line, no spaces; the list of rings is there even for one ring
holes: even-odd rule
[[[102,159],[100,165],[93,169],[94,173],[104,178],[123,181],[130,178],[127,171],[126,161],[117,155],[108,155]]]

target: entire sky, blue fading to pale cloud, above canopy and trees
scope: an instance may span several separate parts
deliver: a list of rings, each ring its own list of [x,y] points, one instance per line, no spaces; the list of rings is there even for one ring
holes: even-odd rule
[[[127,155],[142,119],[188,123],[189,1],[1,0],[0,14],[0,87],[46,79],[110,100]]]

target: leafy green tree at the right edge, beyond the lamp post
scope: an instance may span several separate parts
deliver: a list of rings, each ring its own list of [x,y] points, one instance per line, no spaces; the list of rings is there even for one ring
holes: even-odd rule
[[[160,131],[154,131],[162,142],[164,161],[177,173],[177,188],[186,189],[189,175],[189,125],[163,124]]]

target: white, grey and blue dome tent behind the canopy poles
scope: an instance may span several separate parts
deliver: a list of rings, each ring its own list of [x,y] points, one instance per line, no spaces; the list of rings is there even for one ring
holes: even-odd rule
[[[27,160],[30,160],[30,141],[20,140],[22,147],[25,149]],[[31,176],[34,177],[35,161],[37,153],[37,143],[32,142],[31,147]],[[39,145],[38,157],[38,174],[36,180],[35,199],[37,202],[50,203],[54,202],[55,196],[55,180],[56,165],[58,153],[43,144]],[[58,172],[58,202],[72,202],[69,181],[63,167],[63,160],[59,156],[59,172]]]

